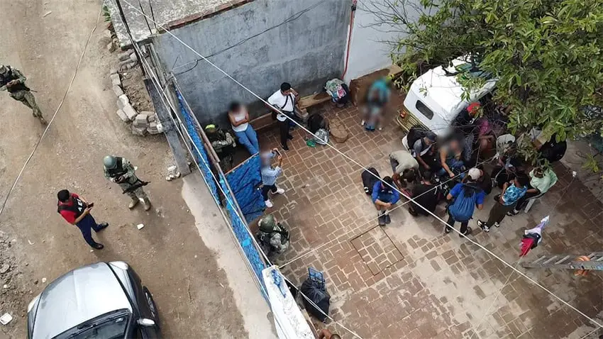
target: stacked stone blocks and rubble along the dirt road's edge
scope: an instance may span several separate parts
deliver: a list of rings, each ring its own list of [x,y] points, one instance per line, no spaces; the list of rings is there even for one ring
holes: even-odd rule
[[[128,61],[128,60],[125,60]],[[120,62],[120,67],[122,62]],[[134,64],[135,65],[135,64]],[[123,92],[121,76],[116,69],[111,70],[111,85],[117,96],[117,115],[124,123],[131,123],[132,133],[135,135],[159,134],[163,132],[163,126],[152,111],[136,111],[130,99]]]

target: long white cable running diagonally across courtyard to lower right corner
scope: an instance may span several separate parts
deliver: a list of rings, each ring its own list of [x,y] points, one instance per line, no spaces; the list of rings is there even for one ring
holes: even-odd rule
[[[138,10],[135,8],[135,6],[132,6],[132,4],[130,4],[127,0],[120,0],[125,2],[126,4],[128,4],[128,6],[131,7],[131,9],[133,9],[134,11],[137,11],[138,13],[140,13],[141,15],[147,17],[148,19],[150,19],[151,21],[153,21],[152,18],[150,18],[149,16],[147,16],[145,13],[143,13],[142,11]],[[231,74],[228,74],[226,71],[222,70],[220,67],[216,66],[213,62],[211,62],[210,60],[208,60],[206,57],[204,57],[203,55],[201,55],[199,52],[197,52],[197,50],[194,50],[194,48],[190,47],[189,45],[187,45],[187,43],[184,43],[184,41],[182,41],[180,38],[178,38],[174,33],[170,32],[170,30],[168,30],[167,28],[165,28],[164,26],[160,25],[160,23],[156,23],[155,21],[153,21],[155,24],[157,24],[157,26],[159,26],[160,28],[162,28],[162,30],[165,30],[165,33],[171,35],[173,38],[175,38],[179,43],[181,43],[182,45],[184,45],[184,47],[188,48],[189,50],[191,50],[192,52],[194,52],[197,56],[201,57],[201,59],[203,59],[205,62],[207,62],[209,65],[211,65],[211,67],[214,67],[216,70],[218,70],[219,72],[221,72],[222,74],[224,74],[226,77],[228,77],[228,79],[231,79],[233,82],[235,82],[236,84],[238,84],[241,88],[245,89],[245,91],[248,91],[251,95],[255,96],[257,99],[259,99],[260,101],[262,101],[264,104],[266,104],[267,106],[269,106],[272,110],[276,111],[276,112],[280,112],[281,114],[283,114],[285,117],[287,117],[290,121],[292,121],[294,124],[296,124],[297,126],[299,126],[299,128],[302,128],[303,130],[305,130],[307,133],[309,133],[310,135],[314,135],[315,138],[319,138],[316,134],[311,133],[308,129],[306,129],[304,126],[302,126],[302,124],[298,123],[297,121],[294,121],[292,118],[290,118],[289,116],[285,115],[284,113],[282,113],[282,111],[280,109],[277,109],[275,106],[272,106],[270,103],[268,103],[267,101],[265,101],[264,99],[262,99],[262,97],[258,96],[258,94],[255,94],[255,92],[251,91],[250,89],[248,89],[247,87],[245,87],[245,85],[241,84],[240,82],[238,82],[237,79],[233,78],[231,76]],[[362,168],[363,170],[368,170],[367,167],[363,166],[362,164],[360,164],[358,161],[354,160],[351,157],[348,157],[348,155],[345,155],[343,152],[341,152],[340,150],[338,150],[335,146],[331,145],[331,143],[327,143],[326,145],[328,145],[328,147],[332,148],[333,150],[335,150],[336,152],[338,152],[340,155],[342,155],[343,157],[345,157],[346,159],[348,159],[350,162],[353,162],[355,165],[357,165],[358,167]],[[370,172],[370,171],[369,171]],[[370,172],[374,177],[377,177],[377,179],[380,179],[380,177],[378,177],[377,175],[373,174],[372,172]],[[386,182],[383,182],[383,184],[387,184]],[[413,201],[416,204],[416,201],[414,201],[414,199],[412,199],[410,196],[407,196],[406,194],[404,194],[402,191],[399,191],[399,189],[397,189],[396,187],[387,184],[387,186],[389,186],[390,188],[394,189],[395,191],[399,192],[399,194],[402,194],[402,196],[404,196],[406,199],[409,199],[411,201]],[[424,211],[426,211],[427,213],[431,214],[431,216],[433,216],[433,218],[436,218],[438,221],[440,221],[441,223],[443,223],[444,227],[446,227],[448,225],[448,223],[446,223],[446,221],[443,221],[442,218],[440,218],[439,216],[436,216],[435,213],[432,213],[431,211],[429,211],[428,209],[426,209],[424,206],[421,206],[420,204],[416,204],[417,206],[421,207],[421,209],[424,209]],[[561,303],[565,304],[565,306],[570,307],[570,309],[573,309],[574,311],[576,311],[577,313],[580,313],[580,315],[584,316],[585,318],[589,319],[592,323],[596,324],[599,327],[603,327],[603,325],[601,323],[599,323],[598,321],[595,321],[593,318],[591,318],[590,316],[587,316],[585,313],[583,313],[582,311],[580,311],[579,309],[576,309],[574,306],[570,305],[567,301],[561,299],[559,296],[557,296],[556,294],[553,293],[553,291],[547,289],[546,287],[544,287],[542,284],[536,282],[536,280],[532,279],[531,277],[528,277],[526,274],[524,274],[524,272],[519,271],[519,269],[516,269],[515,267],[513,267],[513,265],[509,264],[509,262],[505,261],[504,259],[502,259],[502,257],[499,257],[498,255],[494,254],[494,252],[492,252],[491,250],[488,250],[487,248],[485,248],[483,245],[480,245],[480,243],[475,242],[475,240],[472,240],[471,238],[469,238],[467,235],[463,234],[460,232],[460,230],[457,230],[456,228],[451,228],[452,230],[454,230],[456,233],[458,233],[460,236],[462,236],[463,238],[467,239],[470,243],[476,245],[477,247],[481,248],[482,250],[485,250],[489,255],[492,255],[492,257],[496,258],[497,260],[499,260],[500,262],[502,262],[505,266],[507,267],[511,267],[511,269],[513,269],[514,271],[516,271],[517,273],[519,273],[522,277],[528,279],[530,282],[532,282],[533,284],[535,284],[536,286],[540,287],[541,289],[543,289],[544,291],[546,291],[548,294],[551,294],[551,296],[553,296],[555,299],[557,299],[558,301],[560,301]]]

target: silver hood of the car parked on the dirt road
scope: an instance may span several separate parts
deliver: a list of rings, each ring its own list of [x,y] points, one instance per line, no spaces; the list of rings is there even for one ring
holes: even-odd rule
[[[32,338],[53,338],[118,309],[131,311],[132,306],[109,265],[98,262],[79,267],[51,282],[40,294]]]

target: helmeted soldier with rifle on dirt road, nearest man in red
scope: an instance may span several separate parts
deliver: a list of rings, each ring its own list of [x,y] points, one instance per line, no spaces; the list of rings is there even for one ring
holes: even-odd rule
[[[143,186],[146,186],[148,182],[143,182],[136,177],[134,167],[126,158],[107,155],[103,159],[103,167],[106,179],[119,184],[119,187],[123,189],[123,194],[131,197],[132,201],[128,205],[128,209],[133,209],[141,199],[145,211],[150,209],[149,198],[143,190]]]

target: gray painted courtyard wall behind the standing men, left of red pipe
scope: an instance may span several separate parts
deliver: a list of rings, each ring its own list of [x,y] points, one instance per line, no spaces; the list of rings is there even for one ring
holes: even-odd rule
[[[349,0],[255,0],[189,23],[172,33],[207,56],[277,26],[310,7],[314,8],[294,21],[209,57],[262,98],[270,96],[285,81],[306,95],[320,91],[326,80],[341,77]],[[214,67],[203,60],[195,66],[197,55],[172,36],[163,33],[154,43],[165,69],[173,68],[177,74],[184,96],[201,123],[226,123],[226,110],[233,100],[250,105],[253,116],[265,113],[258,99]],[[191,61],[192,64],[184,65]]]

